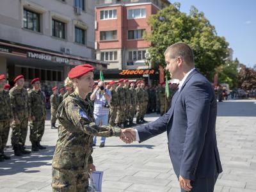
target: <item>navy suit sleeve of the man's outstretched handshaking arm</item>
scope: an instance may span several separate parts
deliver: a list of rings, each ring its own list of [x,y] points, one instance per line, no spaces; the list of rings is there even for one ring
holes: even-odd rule
[[[145,125],[144,127],[139,127],[137,129],[138,134],[140,136],[139,142],[141,143],[143,141],[146,141],[146,140],[166,131],[169,117],[170,117],[170,109],[163,116],[157,118],[156,121],[154,121],[148,125]]]

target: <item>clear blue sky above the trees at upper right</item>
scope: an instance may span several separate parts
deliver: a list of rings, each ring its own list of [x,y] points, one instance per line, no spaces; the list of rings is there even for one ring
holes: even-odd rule
[[[256,0],[169,0],[179,2],[180,11],[189,13],[195,6],[225,36],[233,49],[233,60],[248,67],[256,64]]]

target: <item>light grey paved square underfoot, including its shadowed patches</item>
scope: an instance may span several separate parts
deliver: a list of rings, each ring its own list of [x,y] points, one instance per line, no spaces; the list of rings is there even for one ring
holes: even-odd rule
[[[146,120],[152,122],[157,117],[150,114]],[[216,132],[223,173],[214,191],[256,191],[255,100],[218,103]],[[51,129],[47,120],[42,140],[47,150],[16,157],[8,148],[6,154],[12,160],[0,163],[0,191],[51,191],[51,161],[57,137],[57,130]],[[104,171],[102,191],[180,191],[166,143],[166,133],[141,144],[125,145],[118,138],[107,138],[104,148],[97,143],[93,159],[97,170]],[[29,137],[26,145],[31,149]]]

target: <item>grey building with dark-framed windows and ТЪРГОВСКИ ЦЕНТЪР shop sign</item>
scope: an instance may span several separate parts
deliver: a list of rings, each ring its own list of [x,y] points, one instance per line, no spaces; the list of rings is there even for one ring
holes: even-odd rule
[[[1,0],[0,74],[22,74],[42,88],[61,86],[70,68],[95,60],[94,3],[86,0]]]

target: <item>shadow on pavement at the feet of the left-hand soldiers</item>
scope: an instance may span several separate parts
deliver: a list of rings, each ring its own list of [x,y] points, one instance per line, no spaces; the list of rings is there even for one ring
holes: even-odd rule
[[[29,168],[36,168],[40,166],[51,166],[49,161],[54,154],[54,146],[45,146],[45,150],[38,152],[31,152],[31,154],[23,156],[13,156],[12,148],[7,148],[5,154],[11,156],[11,160],[6,160],[0,163],[1,175],[14,175],[16,173],[36,173],[40,170],[28,170]]]

